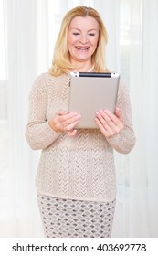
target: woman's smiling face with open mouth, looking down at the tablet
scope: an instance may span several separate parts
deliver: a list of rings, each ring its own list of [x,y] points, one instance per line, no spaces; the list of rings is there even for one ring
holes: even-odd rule
[[[91,65],[91,56],[97,48],[99,24],[91,16],[76,16],[68,27],[68,51],[73,64]]]

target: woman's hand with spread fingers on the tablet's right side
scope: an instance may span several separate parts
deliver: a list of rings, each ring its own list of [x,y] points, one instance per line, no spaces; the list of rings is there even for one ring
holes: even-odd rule
[[[120,133],[124,128],[123,118],[118,107],[116,107],[114,114],[108,110],[100,110],[96,113],[95,121],[105,137]]]

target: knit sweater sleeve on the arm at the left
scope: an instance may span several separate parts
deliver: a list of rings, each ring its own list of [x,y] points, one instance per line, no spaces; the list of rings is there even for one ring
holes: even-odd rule
[[[60,135],[48,125],[46,112],[47,85],[43,75],[40,75],[29,94],[28,123],[26,124],[26,140],[34,150],[47,148]]]

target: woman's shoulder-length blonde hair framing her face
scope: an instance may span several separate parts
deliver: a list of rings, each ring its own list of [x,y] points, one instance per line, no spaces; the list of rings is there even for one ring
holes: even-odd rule
[[[68,69],[75,69],[69,60],[68,27],[71,20],[76,16],[91,16],[98,21],[99,42],[98,47],[96,48],[91,58],[96,72],[107,71],[105,64],[105,47],[108,42],[108,33],[102,22],[102,19],[100,18],[100,14],[91,7],[78,6],[68,11],[62,20],[57,42],[54,48],[52,66],[49,69],[50,74],[53,76],[59,76],[62,73],[68,73]]]

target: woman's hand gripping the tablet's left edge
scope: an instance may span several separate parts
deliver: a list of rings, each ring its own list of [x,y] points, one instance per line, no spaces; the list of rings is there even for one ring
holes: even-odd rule
[[[77,130],[74,130],[74,128],[79,122],[80,117],[80,114],[77,112],[59,110],[48,124],[57,133],[68,132],[68,136],[74,136],[77,133]]]

